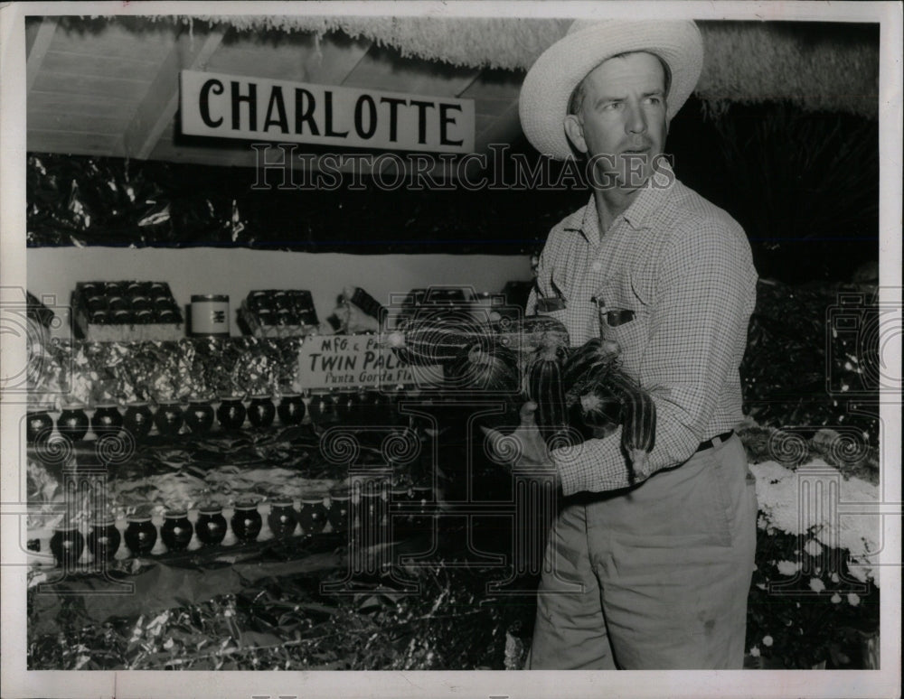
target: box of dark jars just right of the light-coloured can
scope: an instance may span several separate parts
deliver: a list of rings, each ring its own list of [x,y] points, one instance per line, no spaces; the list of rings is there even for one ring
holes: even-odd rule
[[[239,318],[259,338],[310,335],[319,325],[314,299],[305,289],[251,291],[241,302]]]

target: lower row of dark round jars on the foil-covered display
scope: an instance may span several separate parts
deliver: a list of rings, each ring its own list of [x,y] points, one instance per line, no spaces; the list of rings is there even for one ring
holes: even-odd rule
[[[73,523],[55,528],[49,547],[56,564],[75,569],[80,564],[98,564],[114,558],[250,544],[259,539],[341,534],[350,529],[355,537],[366,540],[373,538],[376,529],[388,526],[385,505],[390,497],[397,503],[415,503],[426,512],[432,489],[393,489],[391,495],[385,490],[381,494],[365,492],[354,499],[348,494],[303,498],[298,508],[291,499],[272,499],[263,504],[239,499],[231,513],[209,502],[193,512],[168,509],[162,521],[148,514],[132,514],[125,519],[96,516],[87,529]],[[380,507],[380,499],[384,507]],[[408,519],[414,518],[415,513],[410,512]]]

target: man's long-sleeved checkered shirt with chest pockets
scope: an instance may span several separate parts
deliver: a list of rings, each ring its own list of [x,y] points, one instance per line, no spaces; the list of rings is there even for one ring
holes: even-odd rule
[[[564,296],[551,312],[573,346],[601,333],[616,340],[622,367],[656,404],[649,469],[687,461],[704,440],[743,417],[739,365],[756,302],[757,272],[744,230],[685,187],[667,167],[600,237],[594,199],[552,228],[540,258],[542,296]],[[609,327],[607,310],[634,312]],[[536,307],[533,291],[527,312]],[[552,452],[565,495],[627,487],[621,427],[603,439]]]

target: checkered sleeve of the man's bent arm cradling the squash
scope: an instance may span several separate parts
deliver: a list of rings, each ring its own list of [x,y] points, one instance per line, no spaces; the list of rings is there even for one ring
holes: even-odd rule
[[[687,461],[713,436],[705,430],[737,372],[755,284],[746,237],[718,219],[694,219],[664,250],[638,377],[656,404],[650,471]],[[551,455],[566,495],[631,485],[620,427]]]

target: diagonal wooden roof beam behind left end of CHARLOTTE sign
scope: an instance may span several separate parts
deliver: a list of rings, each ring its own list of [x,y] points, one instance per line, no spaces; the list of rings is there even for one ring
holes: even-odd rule
[[[203,68],[220,47],[224,33],[214,30],[203,41],[199,41],[197,33],[193,39],[184,33],[176,37],[173,49],[166,55],[123,135],[128,157],[147,160],[153,153],[179,107],[179,71]]]

